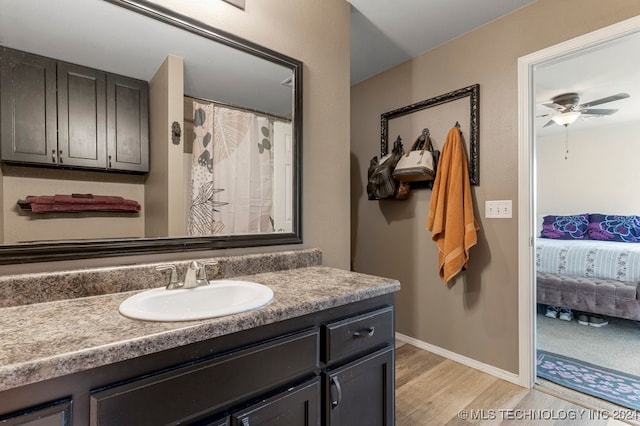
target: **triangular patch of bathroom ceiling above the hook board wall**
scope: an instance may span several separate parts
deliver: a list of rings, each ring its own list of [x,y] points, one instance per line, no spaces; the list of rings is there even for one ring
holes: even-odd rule
[[[535,0],[347,1],[356,84]]]

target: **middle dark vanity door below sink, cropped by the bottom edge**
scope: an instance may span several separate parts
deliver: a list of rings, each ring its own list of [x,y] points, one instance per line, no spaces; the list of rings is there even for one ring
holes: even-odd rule
[[[320,379],[291,388],[231,416],[232,426],[320,424]]]

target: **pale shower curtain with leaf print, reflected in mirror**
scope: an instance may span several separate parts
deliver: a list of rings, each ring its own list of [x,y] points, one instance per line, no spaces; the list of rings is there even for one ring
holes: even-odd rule
[[[272,126],[266,117],[194,101],[189,235],[272,232]]]

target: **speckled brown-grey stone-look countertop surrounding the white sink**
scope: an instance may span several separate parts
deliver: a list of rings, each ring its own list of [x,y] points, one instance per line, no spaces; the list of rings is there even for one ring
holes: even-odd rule
[[[0,391],[392,293],[400,283],[323,266],[232,279],[274,292],[259,310],[188,322],[119,314],[137,291],[0,308]]]

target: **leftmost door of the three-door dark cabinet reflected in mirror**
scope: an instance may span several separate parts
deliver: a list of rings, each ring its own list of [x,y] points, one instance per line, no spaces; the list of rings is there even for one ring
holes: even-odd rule
[[[4,49],[0,66],[0,144],[5,161],[57,163],[56,63]]]

